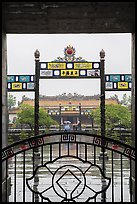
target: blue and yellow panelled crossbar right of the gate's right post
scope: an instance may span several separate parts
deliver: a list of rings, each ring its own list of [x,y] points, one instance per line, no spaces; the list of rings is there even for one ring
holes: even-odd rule
[[[131,74],[107,74],[105,75],[106,91],[131,91]]]

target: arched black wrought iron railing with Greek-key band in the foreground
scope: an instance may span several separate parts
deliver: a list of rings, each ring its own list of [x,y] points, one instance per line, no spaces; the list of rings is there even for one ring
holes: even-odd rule
[[[42,134],[2,149],[10,202],[132,202],[135,149],[86,132]]]

